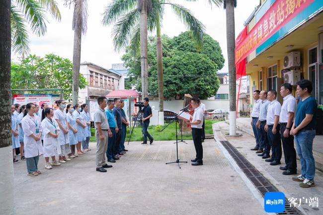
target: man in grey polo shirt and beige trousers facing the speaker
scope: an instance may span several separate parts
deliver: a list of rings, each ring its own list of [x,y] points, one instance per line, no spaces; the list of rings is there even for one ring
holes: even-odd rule
[[[104,168],[110,168],[112,165],[105,163],[105,152],[108,147],[108,136],[112,136],[109,128],[108,119],[106,118],[104,108],[106,107],[106,98],[100,96],[97,98],[99,105],[98,110],[94,113],[94,126],[96,137],[96,171],[106,172]]]

